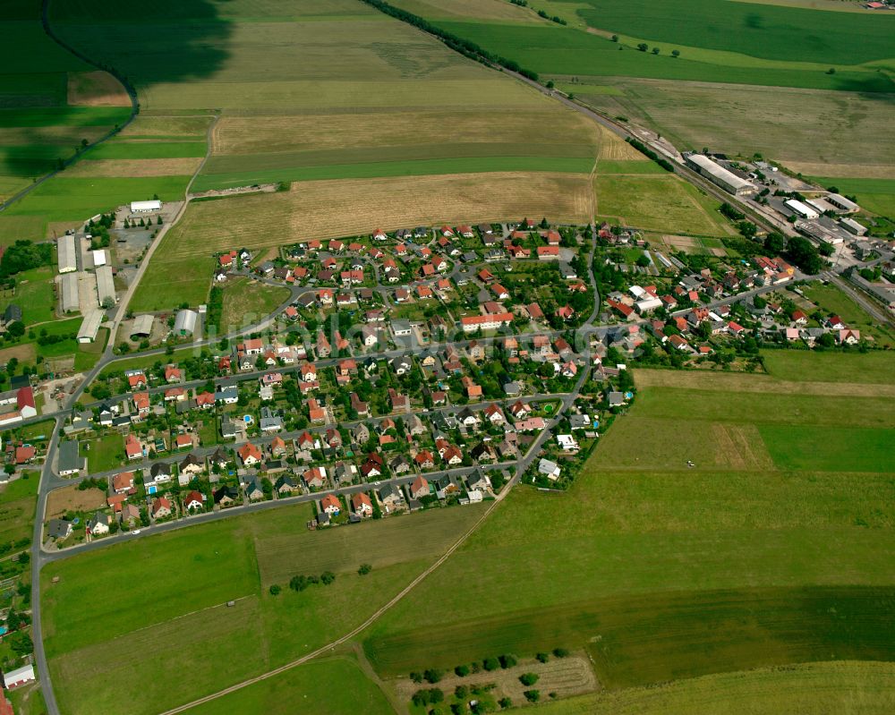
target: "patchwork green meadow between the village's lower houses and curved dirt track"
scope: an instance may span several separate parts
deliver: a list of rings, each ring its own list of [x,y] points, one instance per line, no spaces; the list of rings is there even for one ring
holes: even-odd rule
[[[57,562],[42,588],[61,707],[114,710],[126,692],[129,711],[151,715],[294,660],[362,622],[481,514],[457,507],[311,533],[310,507],[284,506]],[[362,563],[370,574],[357,574]],[[286,587],[328,568],[331,586]],[[283,592],[271,595],[270,583]],[[109,598],[118,604],[111,617]],[[139,682],[128,677],[137,667],[147,675]],[[109,677],[129,685],[108,692]]]

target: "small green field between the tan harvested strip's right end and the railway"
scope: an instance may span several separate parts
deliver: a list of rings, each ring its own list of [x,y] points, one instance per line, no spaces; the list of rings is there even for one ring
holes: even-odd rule
[[[620,217],[627,226],[668,234],[729,234],[712,200],[671,174],[597,174],[594,190],[597,213]]]

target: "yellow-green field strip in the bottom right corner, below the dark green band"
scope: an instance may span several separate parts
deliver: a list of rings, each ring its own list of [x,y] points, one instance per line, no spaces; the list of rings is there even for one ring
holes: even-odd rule
[[[895,666],[805,663],[594,693],[534,709],[538,715],[882,715],[895,709]]]

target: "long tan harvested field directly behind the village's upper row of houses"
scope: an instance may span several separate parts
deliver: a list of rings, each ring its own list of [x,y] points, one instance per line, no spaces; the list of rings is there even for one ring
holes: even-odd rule
[[[586,176],[448,174],[293,184],[289,192],[193,203],[165,237],[163,255],[209,255],[234,245],[268,248],[299,238],[334,238],[420,224],[476,223],[516,216],[590,220]]]

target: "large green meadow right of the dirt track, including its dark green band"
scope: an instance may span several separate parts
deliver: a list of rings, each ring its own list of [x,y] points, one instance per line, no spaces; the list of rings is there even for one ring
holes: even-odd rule
[[[374,668],[391,677],[563,645],[587,648],[601,683],[617,688],[891,660],[891,472],[857,473],[869,460],[813,456],[797,436],[789,450],[801,461],[785,464],[763,441],[798,425],[879,455],[891,399],[772,385],[719,375],[702,389],[641,386],[570,492],[514,490],[400,614],[371,626]],[[447,609],[426,606],[445,598]]]

